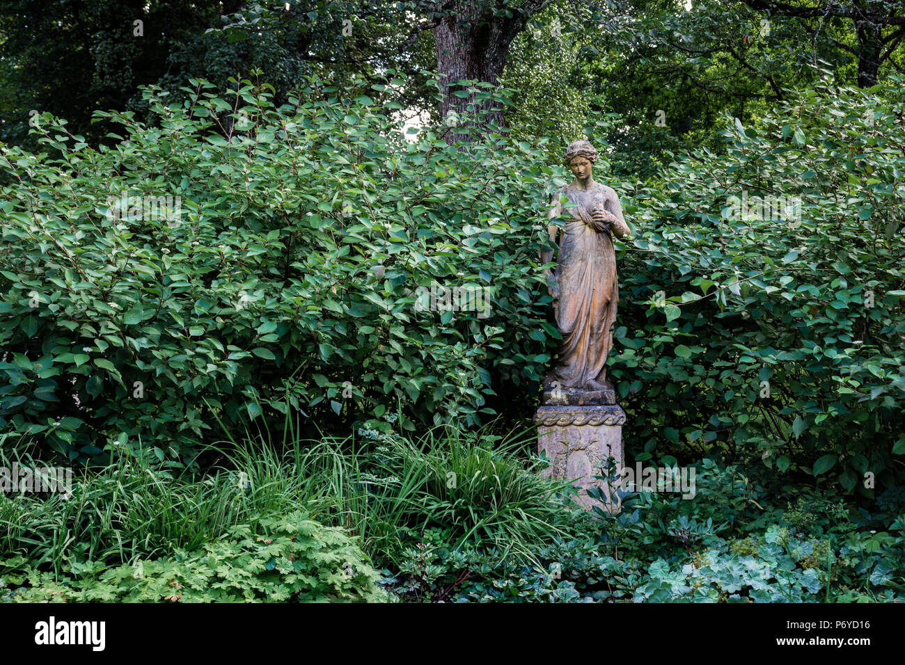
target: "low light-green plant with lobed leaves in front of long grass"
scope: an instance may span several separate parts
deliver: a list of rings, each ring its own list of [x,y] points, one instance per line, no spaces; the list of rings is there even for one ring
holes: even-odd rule
[[[355,541],[296,511],[264,518],[258,527],[233,527],[200,551],[177,550],[166,559],[86,570],[79,580],[26,575],[7,592],[13,602],[379,602],[380,575]],[[22,584],[21,575],[14,584]],[[8,584],[8,583],[7,583]]]

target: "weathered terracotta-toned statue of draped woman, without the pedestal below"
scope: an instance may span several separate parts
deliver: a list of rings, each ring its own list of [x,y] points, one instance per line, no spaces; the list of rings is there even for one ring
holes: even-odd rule
[[[631,230],[614,190],[591,176],[596,159],[597,151],[586,139],[569,144],[565,163],[575,180],[557,190],[548,214],[551,220],[562,217],[565,221],[561,230],[549,226],[558,256],[556,271],[547,272],[548,290],[555,299],[563,340],[544,388],[555,395],[605,391],[614,396],[605,366],[613,347],[619,299],[613,235],[624,238]],[[560,200],[563,195],[575,206],[566,207]],[[549,263],[553,252],[543,251],[540,258]],[[579,398],[576,404],[584,402]]]

